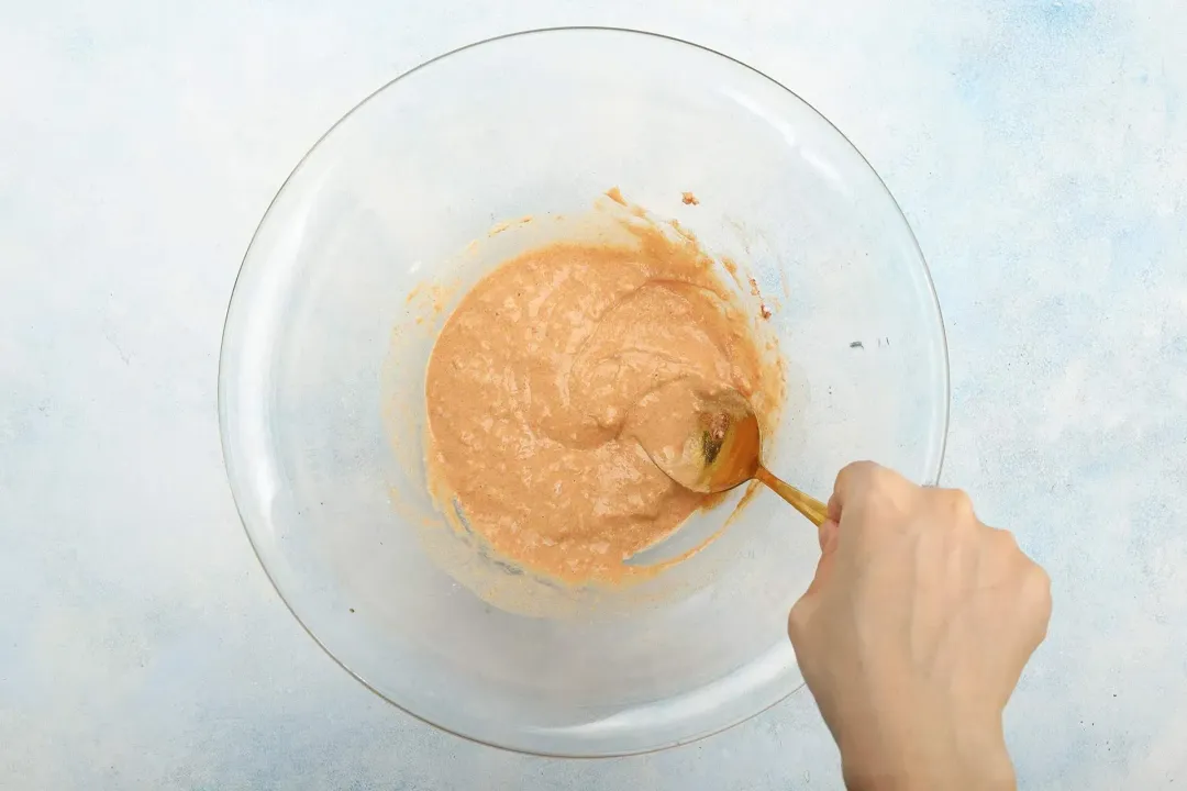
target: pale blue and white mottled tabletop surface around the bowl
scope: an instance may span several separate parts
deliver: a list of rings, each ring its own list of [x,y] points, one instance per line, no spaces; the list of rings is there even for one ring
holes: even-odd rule
[[[323,655],[222,470],[240,257],[427,57],[611,24],[796,90],[899,198],[952,357],[944,479],[1050,572],[1023,787],[1187,784],[1182,0],[0,0],[0,787],[839,789],[806,693],[666,753],[478,747]]]

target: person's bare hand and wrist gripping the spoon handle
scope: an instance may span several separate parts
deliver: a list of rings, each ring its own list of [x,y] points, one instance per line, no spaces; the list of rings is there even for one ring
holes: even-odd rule
[[[871,463],[837,476],[788,634],[851,791],[1015,789],[1002,710],[1047,634],[1050,581],[960,491]]]

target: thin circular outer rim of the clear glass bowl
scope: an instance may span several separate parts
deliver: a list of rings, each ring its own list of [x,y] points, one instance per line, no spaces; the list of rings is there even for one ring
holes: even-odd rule
[[[850,140],[845,135],[844,132],[842,132],[832,121],[829,120],[827,116],[824,115],[824,113],[821,113],[820,110],[818,110],[811,102],[808,102],[807,100],[805,100],[802,96],[800,96],[799,94],[796,94],[795,91],[793,91],[791,88],[788,88],[787,85],[785,85],[780,81],[777,81],[774,77],[772,77],[770,75],[763,72],[762,70],[756,69],[755,66],[751,66],[750,64],[748,64],[748,63],[745,63],[743,60],[740,60],[738,58],[729,56],[729,55],[726,55],[724,52],[721,52],[718,50],[715,50],[715,49],[712,49],[710,46],[705,46],[703,44],[697,44],[694,42],[688,42],[686,39],[683,39],[683,38],[675,37],[675,36],[669,36],[669,34],[666,34],[666,33],[658,33],[658,32],[654,32],[654,31],[646,31],[646,30],[639,30],[639,28],[631,28],[631,27],[616,27],[616,26],[609,26],[609,25],[558,25],[558,26],[550,26],[550,27],[533,27],[533,28],[526,28],[526,30],[520,30],[520,31],[513,31],[513,32],[509,32],[509,33],[501,33],[499,36],[491,36],[491,37],[488,37],[488,38],[483,38],[483,39],[480,39],[480,40],[476,40],[476,42],[471,42],[470,44],[465,44],[465,45],[458,46],[456,49],[449,50],[446,52],[443,52],[443,53],[440,53],[438,56],[434,56],[434,57],[432,57],[432,58],[430,58],[427,60],[424,60],[424,62],[417,64],[415,66],[408,69],[407,71],[404,71],[400,75],[393,77],[392,79],[385,82],[382,85],[380,85],[379,88],[376,88],[375,90],[373,90],[370,94],[368,94],[367,96],[364,96],[361,101],[358,101],[354,107],[351,107],[349,110],[347,110],[347,113],[343,114],[343,116],[341,119],[338,119],[337,121],[335,121],[325,132],[323,132],[317,138],[317,140],[313,141],[313,145],[311,145],[309,147],[309,149],[301,155],[301,158],[297,161],[297,164],[293,166],[293,168],[288,172],[288,176],[285,177],[284,181],[277,189],[275,194],[268,202],[267,208],[265,209],[264,213],[260,216],[260,221],[259,221],[259,223],[256,223],[255,230],[252,231],[252,238],[248,241],[247,249],[243,251],[243,257],[241,259],[239,269],[235,273],[235,281],[231,285],[231,292],[230,292],[230,296],[228,298],[226,313],[223,315],[223,328],[222,328],[222,333],[221,333],[221,337],[220,337],[220,344],[218,344],[217,413],[218,413],[220,449],[221,449],[222,457],[223,457],[223,470],[227,473],[227,481],[228,481],[228,485],[230,487],[231,499],[235,503],[235,511],[239,515],[239,521],[240,521],[240,524],[243,528],[243,532],[247,534],[247,541],[248,541],[248,544],[250,544],[250,547],[252,547],[252,553],[255,555],[255,559],[259,562],[260,568],[264,570],[264,574],[267,578],[268,583],[272,586],[272,589],[275,592],[275,594],[280,599],[281,604],[284,604],[285,608],[288,610],[288,612],[292,614],[292,617],[297,620],[297,623],[300,625],[300,627],[305,631],[305,633],[309,634],[309,637],[313,640],[313,643],[317,644],[317,646],[320,648],[322,651],[326,656],[330,657],[330,659],[332,659],[339,668],[342,668],[343,670],[345,670],[350,676],[353,676],[355,680],[357,680],[364,688],[367,688],[369,691],[372,691],[374,695],[376,695],[380,700],[386,701],[387,703],[394,706],[395,708],[398,708],[399,710],[404,712],[405,714],[411,715],[415,720],[419,720],[419,721],[421,721],[421,722],[431,726],[432,728],[436,728],[438,731],[442,731],[444,733],[451,734],[453,736],[457,736],[459,739],[463,739],[463,740],[472,742],[472,744],[483,745],[483,746],[487,746],[487,747],[494,747],[496,749],[501,749],[501,751],[506,751],[506,752],[510,752],[510,753],[518,753],[518,754],[526,754],[526,755],[539,755],[539,757],[548,757],[548,758],[569,758],[569,759],[596,760],[596,759],[601,759],[601,758],[616,758],[616,757],[626,757],[626,755],[643,755],[643,754],[649,754],[649,753],[656,753],[656,752],[660,752],[660,751],[664,751],[664,749],[669,749],[672,747],[679,747],[681,745],[693,744],[693,742],[700,741],[702,739],[707,739],[709,736],[713,736],[713,735],[717,735],[717,734],[723,733],[725,731],[729,731],[730,728],[734,728],[734,727],[736,727],[738,725],[742,725],[743,722],[747,722],[747,721],[749,721],[749,720],[758,716],[760,714],[763,714],[764,712],[768,712],[768,710],[773,709],[775,706],[779,706],[780,703],[785,702],[788,697],[791,697],[792,695],[794,695],[795,693],[798,693],[800,689],[802,689],[805,687],[805,683],[801,681],[800,684],[796,685],[794,689],[787,691],[785,695],[777,697],[776,700],[773,700],[772,702],[767,703],[766,706],[762,706],[761,708],[755,709],[750,714],[747,714],[747,715],[741,716],[741,717],[735,717],[731,721],[725,722],[724,725],[713,727],[713,728],[711,728],[709,731],[705,731],[703,733],[694,734],[694,735],[691,735],[691,736],[685,738],[685,739],[673,740],[673,741],[669,741],[669,742],[666,742],[666,744],[661,744],[661,745],[656,745],[656,746],[642,747],[642,748],[639,748],[639,749],[624,749],[624,751],[614,751],[614,752],[604,752],[604,753],[592,753],[592,754],[565,753],[565,752],[548,751],[548,749],[532,749],[532,748],[527,748],[527,747],[522,747],[522,746],[516,746],[516,745],[513,745],[513,744],[500,744],[500,742],[494,741],[494,740],[483,739],[483,738],[478,738],[478,736],[475,736],[475,735],[461,733],[461,732],[455,731],[455,729],[452,729],[452,728],[450,728],[447,726],[444,726],[444,725],[442,725],[439,722],[434,722],[434,721],[432,721],[432,720],[423,716],[421,714],[418,714],[417,712],[413,712],[413,710],[406,708],[400,702],[392,700],[391,697],[388,697],[387,695],[385,695],[382,691],[380,691],[377,688],[375,688],[374,685],[372,685],[370,682],[368,682],[366,678],[363,678],[357,672],[355,672],[351,668],[349,668],[343,659],[338,658],[338,656],[335,655],[334,651],[331,651],[317,637],[317,634],[313,633],[313,631],[310,629],[310,626],[306,625],[305,621],[301,619],[301,617],[297,613],[297,611],[293,610],[292,604],[290,604],[290,601],[285,598],[284,593],[280,592],[280,588],[277,585],[277,581],[273,578],[272,572],[268,570],[268,566],[265,563],[264,557],[260,554],[260,548],[256,546],[256,542],[253,538],[252,530],[248,529],[248,527],[247,527],[247,519],[245,518],[245,510],[243,510],[243,506],[241,505],[241,499],[242,498],[241,498],[241,495],[237,491],[239,490],[239,485],[236,484],[235,478],[231,476],[231,466],[228,463],[228,460],[229,460],[229,445],[230,445],[230,440],[229,440],[229,433],[228,433],[228,429],[227,429],[227,397],[228,397],[228,394],[227,394],[227,383],[226,383],[226,377],[224,377],[224,372],[226,372],[226,357],[227,357],[227,349],[228,349],[228,326],[230,324],[231,311],[235,308],[236,295],[240,294],[240,291],[239,291],[240,279],[243,276],[243,270],[247,267],[248,257],[252,254],[252,248],[255,245],[255,241],[256,241],[256,237],[259,236],[260,229],[264,227],[264,223],[267,219],[268,215],[272,212],[272,209],[277,204],[277,200],[280,198],[280,196],[287,189],[288,183],[293,179],[293,177],[297,174],[297,172],[301,170],[301,167],[304,166],[304,164],[306,162],[306,160],[322,145],[322,142],[325,141],[326,138],[329,138],[341,125],[345,123],[364,104],[367,104],[368,102],[370,102],[372,100],[374,100],[376,96],[379,96],[380,94],[382,94],[383,91],[386,91],[388,88],[391,88],[395,83],[400,82],[401,79],[404,79],[406,77],[410,77],[413,74],[415,74],[415,72],[418,72],[418,71],[420,71],[420,70],[423,70],[423,69],[425,69],[427,66],[431,66],[432,64],[434,64],[434,63],[437,63],[439,60],[444,60],[444,59],[450,58],[450,57],[452,57],[455,55],[459,55],[459,53],[465,52],[468,50],[482,47],[482,46],[484,46],[487,44],[493,44],[493,43],[496,43],[496,42],[503,42],[503,40],[518,39],[518,38],[527,38],[527,37],[531,37],[531,36],[541,36],[541,34],[550,34],[550,33],[572,33],[572,32],[601,32],[601,33],[611,33],[611,34],[620,34],[621,33],[621,34],[633,36],[633,37],[660,39],[660,40],[669,42],[669,43],[673,43],[673,44],[680,44],[680,45],[690,46],[692,49],[700,50],[700,51],[706,52],[709,55],[713,55],[713,56],[724,58],[725,60],[732,62],[732,63],[742,66],[747,71],[750,71],[750,72],[757,75],[758,77],[762,77],[763,79],[770,82],[772,84],[781,88],[783,91],[786,91],[787,94],[789,94],[792,97],[794,97],[795,100],[798,100],[799,102],[801,102],[805,107],[807,107],[810,110],[812,110],[820,120],[823,120],[826,125],[829,125],[829,127],[831,127],[833,132],[836,132],[838,135],[840,135],[840,138],[846,143],[849,143],[849,147],[861,158],[862,162],[865,164],[865,166],[869,168],[869,171],[874,174],[875,179],[877,179],[877,183],[881,186],[882,192],[886,193],[886,197],[890,199],[890,205],[894,206],[894,210],[897,213],[899,219],[902,222],[902,227],[906,229],[906,231],[907,231],[907,234],[908,234],[908,236],[910,238],[910,243],[912,243],[912,245],[913,245],[913,248],[915,250],[915,254],[919,256],[919,261],[920,261],[920,263],[923,267],[923,279],[925,279],[925,282],[926,282],[926,286],[927,286],[927,292],[931,295],[932,307],[935,311],[935,318],[938,319],[938,325],[939,325],[939,339],[940,339],[940,346],[941,346],[941,350],[942,350],[942,361],[944,361],[944,365],[942,365],[944,400],[942,400],[942,404],[941,404],[942,412],[944,412],[944,414],[942,414],[942,429],[941,429],[941,433],[940,433],[939,453],[938,453],[937,459],[935,459],[935,472],[932,476],[932,478],[922,481],[923,485],[926,485],[926,486],[937,486],[937,485],[939,485],[940,477],[942,476],[942,472],[944,472],[944,460],[945,460],[945,455],[946,455],[946,452],[947,452],[948,428],[950,428],[950,420],[951,420],[951,412],[952,412],[952,375],[951,375],[951,361],[950,361],[950,356],[948,356],[947,330],[945,327],[944,313],[942,313],[942,310],[940,308],[939,295],[937,294],[937,291],[935,291],[935,282],[934,282],[934,280],[932,278],[931,267],[928,266],[927,259],[923,255],[923,251],[922,251],[922,249],[919,245],[919,238],[915,236],[914,229],[910,227],[910,223],[907,221],[907,217],[906,217],[906,215],[902,211],[902,206],[899,204],[897,199],[895,199],[894,193],[890,192],[890,189],[887,186],[886,181],[882,179],[882,176],[877,172],[877,170],[874,167],[874,165],[870,164],[869,159],[865,158],[865,154],[862,153],[862,151],[853,143],[853,141]]]

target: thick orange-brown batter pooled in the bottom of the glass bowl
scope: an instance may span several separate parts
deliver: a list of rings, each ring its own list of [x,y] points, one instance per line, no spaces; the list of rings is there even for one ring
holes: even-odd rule
[[[637,245],[553,243],[507,261],[462,299],[429,363],[434,492],[496,554],[565,582],[636,573],[626,559],[712,503],[634,439],[648,394],[729,387],[760,415],[779,406],[712,261],[691,238],[633,234]]]

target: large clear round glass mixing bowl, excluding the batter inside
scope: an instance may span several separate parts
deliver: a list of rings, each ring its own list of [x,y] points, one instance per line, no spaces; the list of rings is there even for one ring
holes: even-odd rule
[[[671,38],[565,28],[380,89],[300,161],[243,261],[220,361],[228,476],[268,576],[331,656],[433,725],[525,752],[658,749],[802,683],[785,624],[815,535],[769,492],[691,560],[564,617],[490,606],[426,553],[444,528],[420,394],[459,294],[434,292],[423,325],[406,296],[493,266],[458,254],[494,222],[583,212],[611,186],[755,278],[788,361],[776,472],[826,497],[850,460],[935,483],[944,455],[944,328],[912,231],[779,83]]]

